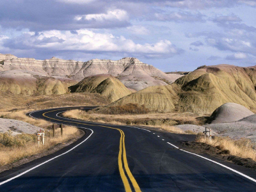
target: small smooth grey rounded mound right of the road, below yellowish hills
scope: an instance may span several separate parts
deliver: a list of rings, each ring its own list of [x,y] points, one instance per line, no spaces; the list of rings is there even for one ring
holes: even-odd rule
[[[212,124],[236,122],[246,116],[253,115],[252,111],[239,104],[228,102],[217,108],[211,115]],[[256,120],[256,118],[255,118]]]

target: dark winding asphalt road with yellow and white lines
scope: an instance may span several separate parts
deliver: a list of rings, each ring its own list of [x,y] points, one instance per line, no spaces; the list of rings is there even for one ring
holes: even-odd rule
[[[0,173],[1,192],[256,191],[255,170],[182,148],[180,140],[191,140],[191,135],[60,117],[66,110],[30,115],[80,127],[86,135],[54,154]]]

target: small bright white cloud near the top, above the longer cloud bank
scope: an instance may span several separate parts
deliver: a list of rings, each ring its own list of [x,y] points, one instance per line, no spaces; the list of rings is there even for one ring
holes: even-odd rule
[[[75,20],[129,20],[129,16],[125,10],[108,10],[107,13],[77,15]]]

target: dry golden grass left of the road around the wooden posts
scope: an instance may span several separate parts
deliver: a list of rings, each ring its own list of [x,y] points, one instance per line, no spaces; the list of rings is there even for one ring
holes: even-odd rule
[[[19,134],[12,136],[11,132],[0,134],[0,166],[13,163],[24,157],[29,157],[63,143],[79,134],[76,127],[64,127],[63,136],[60,136],[60,129],[56,130],[56,137],[52,137],[51,131],[45,134],[45,145],[38,148],[35,134]]]

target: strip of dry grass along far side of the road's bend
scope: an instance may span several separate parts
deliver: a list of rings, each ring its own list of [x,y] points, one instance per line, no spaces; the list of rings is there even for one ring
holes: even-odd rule
[[[97,116],[97,115],[99,115],[99,114],[86,113],[85,111],[81,111],[79,109],[74,109],[74,110],[66,111],[65,113],[63,113],[63,116],[66,116],[68,118],[78,118],[78,119],[82,119],[82,120],[99,122],[99,123],[103,123],[103,124],[127,125],[127,122],[120,121],[120,119],[118,119],[118,118],[113,118],[114,117],[113,115],[107,116],[104,118],[99,118],[99,116]],[[156,114],[154,114],[154,115],[156,115]],[[122,115],[119,115],[119,116],[122,116]],[[138,116],[138,115],[136,115],[136,116]],[[102,116],[100,115],[100,117],[102,117]],[[116,115],[115,115],[115,117],[116,117]],[[129,117],[131,117],[131,115],[129,115]],[[139,124],[139,123],[132,124],[131,120],[128,120],[128,121],[129,121],[129,125],[143,125],[143,126],[147,126],[147,127],[157,127],[159,129],[163,129],[164,131],[167,131],[167,132],[180,133],[180,134],[195,134],[195,132],[192,132],[192,131],[182,131],[182,129],[180,129],[179,127],[173,127],[172,125],[165,125],[165,124],[145,125],[145,124]]]

